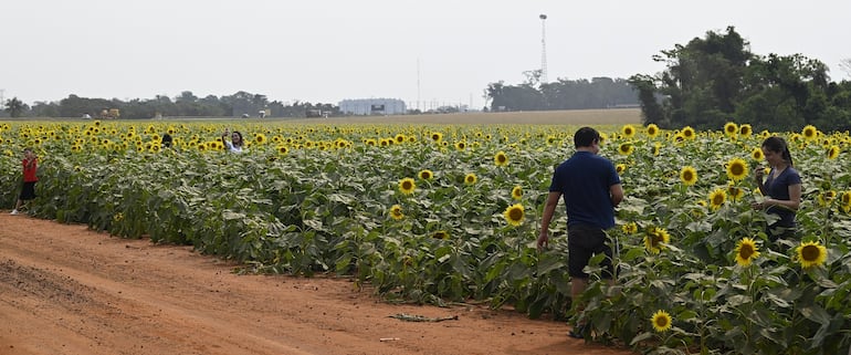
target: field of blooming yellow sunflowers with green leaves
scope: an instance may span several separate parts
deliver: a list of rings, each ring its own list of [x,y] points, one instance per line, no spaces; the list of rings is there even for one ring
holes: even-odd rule
[[[225,126],[244,153],[224,152]],[[597,127],[626,192],[609,231],[619,271],[599,280],[592,259],[571,300],[563,206],[550,247],[535,240],[577,128],[0,122],[0,206],[14,205],[32,147],[40,181],[28,213],[191,244],[241,271],[347,275],[396,302],[512,306],[645,354],[848,352],[848,133]],[[797,233],[777,242],[765,233],[771,217],[752,208],[771,135],[789,143],[803,181]]]

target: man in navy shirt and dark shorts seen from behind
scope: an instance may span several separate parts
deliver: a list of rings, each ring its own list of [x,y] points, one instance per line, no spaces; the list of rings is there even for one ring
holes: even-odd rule
[[[598,253],[605,253],[602,276],[612,279],[612,250],[608,246],[606,230],[614,227],[614,207],[623,199],[623,188],[614,165],[598,156],[600,134],[591,127],[582,127],[574,134],[576,153],[561,163],[553,174],[549,195],[540,221],[538,249],[549,243],[549,222],[555,213],[558,199],[564,196],[567,207],[568,272],[570,296],[577,302],[588,283],[582,271],[588,261]],[[581,307],[577,307],[581,309]],[[581,326],[570,336],[582,337]]]

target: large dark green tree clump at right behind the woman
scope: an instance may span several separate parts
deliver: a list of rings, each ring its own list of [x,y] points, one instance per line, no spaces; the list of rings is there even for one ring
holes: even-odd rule
[[[801,54],[754,54],[734,27],[675,44],[653,60],[666,69],[629,79],[645,124],[718,129],[726,122],[743,122],[760,130],[806,125],[851,129],[851,82],[831,82],[824,63]]]

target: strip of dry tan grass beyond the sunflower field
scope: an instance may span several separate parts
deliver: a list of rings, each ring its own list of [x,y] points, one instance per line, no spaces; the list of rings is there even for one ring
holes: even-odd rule
[[[353,116],[287,121],[303,124],[470,124],[623,125],[641,124],[640,108],[459,113],[442,115]]]

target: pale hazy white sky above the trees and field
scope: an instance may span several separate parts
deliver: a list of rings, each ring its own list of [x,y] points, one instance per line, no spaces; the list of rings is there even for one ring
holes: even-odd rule
[[[653,74],[660,50],[728,25],[754,53],[801,53],[849,79],[847,0],[10,0],[0,90],[28,104],[246,91],[481,108],[488,83],[540,67],[542,13],[550,81]]]

